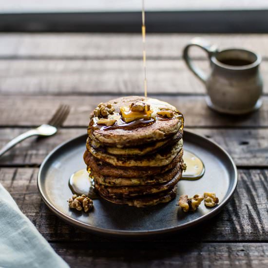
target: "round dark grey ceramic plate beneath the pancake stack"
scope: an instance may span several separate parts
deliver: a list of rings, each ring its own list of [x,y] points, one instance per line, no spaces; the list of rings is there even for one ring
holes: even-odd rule
[[[116,236],[144,236],[185,229],[217,214],[230,201],[237,185],[234,162],[216,143],[184,131],[185,150],[200,157],[206,168],[196,181],[181,180],[176,199],[149,208],[115,205],[103,199],[94,200],[89,214],[71,210],[67,200],[72,196],[68,180],[72,173],[85,168],[83,153],[86,135],[59,145],[43,161],[38,173],[38,190],[47,206],[64,221],[95,233]],[[216,192],[220,203],[206,208],[204,203],[195,212],[184,213],[176,206],[181,194]]]

